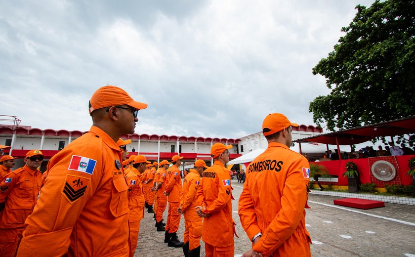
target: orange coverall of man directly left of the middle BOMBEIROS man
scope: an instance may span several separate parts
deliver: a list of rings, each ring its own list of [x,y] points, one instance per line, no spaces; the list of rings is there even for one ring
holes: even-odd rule
[[[196,214],[195,208],[199,206],[196,202],[196,191],[200,183],[199,172],[190,169],[183,180],[183,199],[181,210],[184,216],[183,243],[189,242],[189,250],[200,246],[202,238],[202,218]]]

